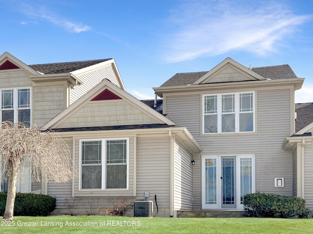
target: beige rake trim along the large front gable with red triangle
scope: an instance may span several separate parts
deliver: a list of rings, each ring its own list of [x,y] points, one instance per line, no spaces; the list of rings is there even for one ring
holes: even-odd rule
[[[149,115],[150,117],[162,122],[166,123],[168,125],[176,125],[173,121],[168,119],[167,117],[164,117],[162,114],[158,113],[157,111],[153,110],[146,104],[142,103],[137,98],[134,98],[132,95],[127,93],[126,91],[122,90],[121,88],[117,87],[116,85],[112,84],[109,80],[104,79],[102,80],[97,86],[95,86],[93,89],[91,89],[87,94],[85,94],[82,98],[79,98],[77,101],[75,101],[72,105],[67,107],[64,111],[62,111],[59,115],[51,119],[49,122],[47,122],[41,130],[47,130],[49,128],[53,128],[53,126],[58,125],[59,123],[62,123],[64,119],[67,119],[67,117],[73,115],[75,112],[80,110],[85,106],[87,102],[89,102],[92,98],[94,98],[96,95],[98,95],[100,92],[102,92],[106,87],[110,88],[114,91],[115,94],[122,96],[125,101],[128,101],[132,103],[133,105],[139,107],[145,114]]]

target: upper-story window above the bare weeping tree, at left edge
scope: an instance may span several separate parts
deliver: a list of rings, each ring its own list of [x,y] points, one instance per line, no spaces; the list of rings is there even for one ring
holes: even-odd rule
[[[31,89],[13,88],[1,90],[1,121],[31,123]]]

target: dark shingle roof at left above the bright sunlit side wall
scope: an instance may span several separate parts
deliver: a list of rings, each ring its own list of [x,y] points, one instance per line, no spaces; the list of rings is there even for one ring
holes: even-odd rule
[[[44,74],[60,74],[70,73],[85,67],[92,66],[94,64],[104,62],[110,59],[97,59],[77,62],[58,62],[58,63],[45,63],[45,64],[34,64],[28,65],[37,72]]]

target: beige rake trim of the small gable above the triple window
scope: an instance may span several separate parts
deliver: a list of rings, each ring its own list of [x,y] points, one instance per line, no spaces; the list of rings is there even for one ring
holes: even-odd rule
[[[218,64],[217,66],[215,66],[213,69],[211,69],[208,73],[204,74],[201,78],[199,78],[198,80],[196,80],[195,82],[193,82],[193,84],[201,84],[201,82],[203,82],[205,79],[209,78],[210,76],[212,76],[214,73],[216,73],[218,70],[220,70],[221,68],[223,68],[225,65],[227,65],[227,63],[232,64],[233,66],[237,67],[238,69],[244,71],[245,73],[247,73],[248,75],[256,78],[257,80],[266,80],[266,78],[260,76],[259,74],[253,72],[252,70],[250,70],[249,68],[243,66],[242,64],[240,64],[239,62],[236,62],[233,59],[230,58],[226,58],[224,59],[224,61],[222,61],[220,64]]]

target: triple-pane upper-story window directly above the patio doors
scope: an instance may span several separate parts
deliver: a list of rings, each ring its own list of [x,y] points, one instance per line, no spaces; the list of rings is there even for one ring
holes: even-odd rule
[[[203,134],[255,131],[254,92],[203,95]]]

